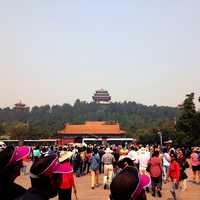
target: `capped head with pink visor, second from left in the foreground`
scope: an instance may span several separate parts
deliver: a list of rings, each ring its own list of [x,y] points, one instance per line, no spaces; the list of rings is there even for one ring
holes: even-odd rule
[[[59,163],[56,155],[49,155],[36,160],[30,169],[32,187],[40,189],[48,198],[57,195],[61,174],[72,173],[71,167]]]

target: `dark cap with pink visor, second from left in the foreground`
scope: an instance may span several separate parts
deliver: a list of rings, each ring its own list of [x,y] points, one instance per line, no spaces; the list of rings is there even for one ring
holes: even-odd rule
[[[59,163],[58,156],[49,155],[36,160],[30,169],[31,178],[40,178],[41,176],[49,176],[51,174],[72,173],[71,166],[66,167]]]

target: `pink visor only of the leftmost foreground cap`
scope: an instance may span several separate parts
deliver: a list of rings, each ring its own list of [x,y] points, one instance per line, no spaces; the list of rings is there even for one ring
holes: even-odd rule
[[[30,152],[31,152],[30,147],[27,147],[27,146],[15,147],[12,157],[9,161],[9,164],[13,163],[13,162],[17,162],[17,161],[25,158],[26,156],[28,156],[30,154]]]

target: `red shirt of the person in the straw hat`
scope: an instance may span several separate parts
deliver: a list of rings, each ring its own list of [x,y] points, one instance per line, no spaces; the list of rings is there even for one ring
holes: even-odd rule
[[[67,168],[71,167],[70,163],[64,163]],[[67,174],[62,174],[62,181],[60,184],[60,189],[71,189],[74,186],[74,176],[73,172],[67,173]]]

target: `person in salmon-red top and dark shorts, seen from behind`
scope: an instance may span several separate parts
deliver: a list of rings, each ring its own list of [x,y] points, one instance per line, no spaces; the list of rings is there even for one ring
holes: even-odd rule
[[[151,176],[151,186],[152,186],[152,196],[162,197],[161,194],[161,185],[162,185],[162,161],[159,158],[159,151],[154,151],[152,157],[150,158],[149,162],[149,173]]]

